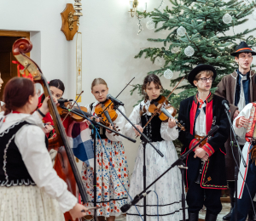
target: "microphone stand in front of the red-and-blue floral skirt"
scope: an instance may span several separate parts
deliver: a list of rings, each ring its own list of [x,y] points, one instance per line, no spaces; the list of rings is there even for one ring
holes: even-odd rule
[[[61,104],[60,106],[61,106],[61,108],[64,109],[64,110],[70,111],[70,112],[72,112],[73,114],[76,114],[76,115],[78,115],[78,116],[82,116],[82,117],[84,117],[84,119],[88,119],[87,116],[89,116],[89,114],[86,113],[86,112],[83,112],[83,111],[82,111],[82,112],[81,112],[81,113],[83,114],[83,115],[82,115],[82,114],[78,113],[77,111],[73,111],[73,110],[67,109],[67,107],[66,107],[65,105],[63,105],[63,104]],[[81,110],[79,110],[79,111],[81,111]],[[87,115],[87,116],[85,116],[85,115]],[[92,133],[92,136],[93,136],[93,149],[94,149],[94,176],[93,176],[94,188],[93,188],[93,193],[94,193],[94,207],[96,207],[96,129],[97,129],[97,127],[104,127],[104,128],[106,128],[106,129],[112,131],[113,133],[117,133],[117,134],[119,134],[119,136],[122,136],[122,137],[124,137],[125,139],[130,140],[130,141],[133,142],[133,143],[136,143],[136,139],[131,139],[131,138],[129,138],[129,137],[126,137],[126,136],[123,135],[122,133],[118,133],[118,132],[116,132],[115,130],[106,127],[105,125],[102,125],[102,123],[99,123],[99,122],[96,122],[96,121],[90,121],[90,123],[91,123],[90,126],[89,126],[90,129],[91,129],[91,130],[95,130],[94,133]],[[95,209],[95,212],[96,212],[96,209]],[[96,220],[95,220],[95,221],[96,221]]]

